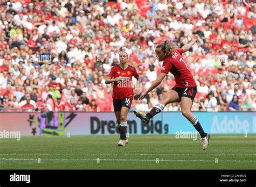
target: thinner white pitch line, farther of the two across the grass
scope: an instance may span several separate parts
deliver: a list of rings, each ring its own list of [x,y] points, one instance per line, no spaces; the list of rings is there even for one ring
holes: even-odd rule
[[[0,154],[5,156],[256,156],[256,154]]]

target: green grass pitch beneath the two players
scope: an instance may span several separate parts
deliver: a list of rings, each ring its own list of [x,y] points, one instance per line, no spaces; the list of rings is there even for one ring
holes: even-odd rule
[[[211,135],[207,150],[198,139],[175,135],[22,136],[0,139],[0,169],[256,169],[256,134]]]

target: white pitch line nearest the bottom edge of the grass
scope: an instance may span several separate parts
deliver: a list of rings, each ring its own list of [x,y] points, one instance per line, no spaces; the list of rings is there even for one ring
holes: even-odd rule
[[[0,158],[0,160],[35,160],[38,159],[16,159],[16,158]],[[214,160],[140,160],[140,159],[41,159],[49,161],[135,161],[135,162],[214,162]],[[256,162],[256,160],[220,160],[220,162]]]

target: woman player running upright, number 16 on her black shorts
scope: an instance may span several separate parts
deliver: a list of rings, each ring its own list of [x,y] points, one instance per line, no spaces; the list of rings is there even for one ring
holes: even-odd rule
[[[129,141],[126,138],[127,114],[132,104],[133,89],[132,76],[137,79],[136,92],[139,91],[139,75],[137,70],[127,64],[128,55],[122,51],[119,53],[120,64],[112,67],[105,83],[113,86],[113,106],[114,114],[117,118],[117,128],[120,132],[118,146],[125,146]]]

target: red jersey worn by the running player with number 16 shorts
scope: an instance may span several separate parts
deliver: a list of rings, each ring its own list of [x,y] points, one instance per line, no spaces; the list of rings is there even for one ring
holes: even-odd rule
[[[113,99],[123,99],[125,97],[133,97],[132,90],[132,76],[138,78],[138,73],[135,68],[128,66],[126,69],[121,68],[119,65],[114,66],[109,75],[110,78],[120,77],[120,81],[114,82]]]

